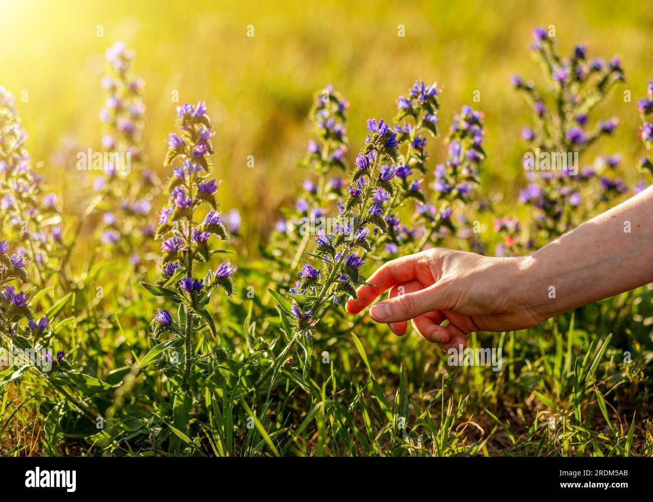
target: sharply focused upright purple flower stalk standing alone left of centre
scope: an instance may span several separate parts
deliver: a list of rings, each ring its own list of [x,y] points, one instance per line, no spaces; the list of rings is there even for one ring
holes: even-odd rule
[[[209,270],[202,278],[195,275],[196,263],[210,261],[213,254],[221,252],[213,248],[212,238],[226,240],[227,231],[215,196],[218,183],[210,178],[214,133],[206,105],[200,102],[193,107],[185,103],[178,107],[177,112],[179,130],[170,133],[164,161],[165,166],[175,163],[176,167],[168,179],[168,204],[159,212],[155,237],[161,241],[161,276],[156,285],[144,286],[155,295],[183,305],[177,320],[172,319],[168,310],[155,313],[152,335],[158,339],[163,333],[172,332],[183,338],[183,382],[188,388],[193,365],[193,339],[200,318],[206,321],[214,338],[215,325],[206,305],[217,287],[231,296],[231,275],[236,267],[227,261],[215,271]],[[204,218],[199,216],[202,206],[210,208]]]

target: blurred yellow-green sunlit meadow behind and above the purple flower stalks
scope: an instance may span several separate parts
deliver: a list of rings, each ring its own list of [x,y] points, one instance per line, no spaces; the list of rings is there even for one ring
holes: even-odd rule
[[[242,212],[250,242],[306,175],[296,167],[312,134],[306,114],[313,93],[329,83],[351,102],[349,158],[364,139],[364,120],[391,118],[396,97],[416,78],[443,86],[445,127],[463,104],[483,110],[489,159],[481,192],[510,214],[523,183],[519,134],[530,111],[508,82],[513,73],[540,76],[528,49],[536,25],[555,25],[564,54],[582,41],[590,58],[622,57],[628,82],[597,110],[619,116],[621,124],[601,142],[601,153],[620,152],[624,171],[635,176],[643,150],[635,102],[653,76],[647,2],[0,0],[0,6],[0,85],[18,97],[27,92],[17,104],[29,149],[44,161],[44,175],[63,192],[70,213],[82,211],[90,197],[93,173],[76,171],[74,154],[99,148],[104,50],[115,41],[136,51],[135,73],[146,80],[146,152],[161,175],[167,176],[160,166],[174,124],[173,92],[182,102],[207,101],[224,182],[220,199],[224,209]],[[247,37],[248,25],[254,37]],[[475,90],[480,103],[471,103]],[[631,103],[624,103],[624,90]]]

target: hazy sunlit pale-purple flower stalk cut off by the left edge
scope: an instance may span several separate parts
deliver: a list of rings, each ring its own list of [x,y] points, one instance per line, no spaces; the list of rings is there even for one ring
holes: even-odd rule
[[[3,233],[18,244],[16,254],[31,256],[39,284],[57,269],[61,241],[57,195],[44,192],[25,148],[14,97],[0,87],[0,223]]]

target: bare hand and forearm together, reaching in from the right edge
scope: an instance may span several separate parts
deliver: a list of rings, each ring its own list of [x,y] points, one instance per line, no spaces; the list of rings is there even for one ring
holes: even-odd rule
[[[360,286],[347,311],[398,336],[407,324],[444,350],[472,331],[512,331],[653,282],[653,186],[527,256],[432,248],[394,259]],[[629,230],[629,231],[628,231]],[[554,288],[554,290],[552,290]],[[444,324],[444,326],[443,326]]]

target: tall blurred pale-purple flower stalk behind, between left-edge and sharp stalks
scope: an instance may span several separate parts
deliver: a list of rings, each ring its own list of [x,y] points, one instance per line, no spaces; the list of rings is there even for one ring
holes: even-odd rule
[[[127,166],[104,165],[104,175],[95,179],[95,188],[103,193],[101,241],[108,250],[128,253],[134,265],[140,263],[136,248],[142,248],[154,235],[150,222],[151,199],[157,192],[159,180],[143,165],[142,130],[145,124],[145,105],[142,97],[144,81],[134,76],[132,65],[135,53],[116,42],[106,50],[106,72],[102,86],[106,101],[100,110],[104,124],[102,147],[113,158],[129,162]],[[129,154],[129,158],[127,158]],[[136,176],[129,176],[136,171]]]

